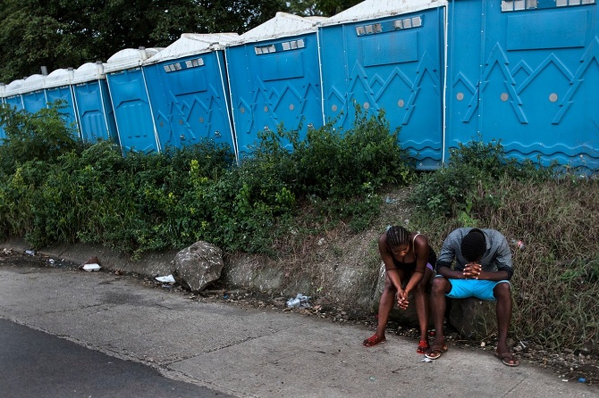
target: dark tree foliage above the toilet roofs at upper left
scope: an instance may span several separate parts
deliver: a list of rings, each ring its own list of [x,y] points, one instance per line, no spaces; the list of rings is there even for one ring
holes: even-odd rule
[[[0,81],[165,47],[181,33],[243,33],[282,0],[0,0]]]

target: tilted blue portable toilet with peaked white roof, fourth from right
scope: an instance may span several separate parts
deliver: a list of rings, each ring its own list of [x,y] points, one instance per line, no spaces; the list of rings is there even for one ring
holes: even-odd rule
[[[143,62],[162,149],[210,139],[235,151],[224,46],[238,37],[237,33],[183,33]]]

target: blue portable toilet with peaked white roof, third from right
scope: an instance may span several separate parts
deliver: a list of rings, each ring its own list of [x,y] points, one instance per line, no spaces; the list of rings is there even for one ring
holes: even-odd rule
[[[323,125],[317,26],[323,17],[277,13],[226,48],[231,107],[240,158],[258,131]]]

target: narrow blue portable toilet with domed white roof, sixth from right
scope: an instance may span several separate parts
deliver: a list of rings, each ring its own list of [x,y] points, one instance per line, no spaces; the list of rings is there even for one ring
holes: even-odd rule
[[[87,62],[79,66],[73,73],[71,84],[81,140],[118,142],[104,64]]]

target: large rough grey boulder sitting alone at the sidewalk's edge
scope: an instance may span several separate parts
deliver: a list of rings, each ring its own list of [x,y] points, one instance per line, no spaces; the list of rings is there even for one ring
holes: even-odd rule
[[[174,259],[174,274],[179,284],[192,292],[205,289],[220,278],[223,252],[213,244],[198,241],[181,250]]]

